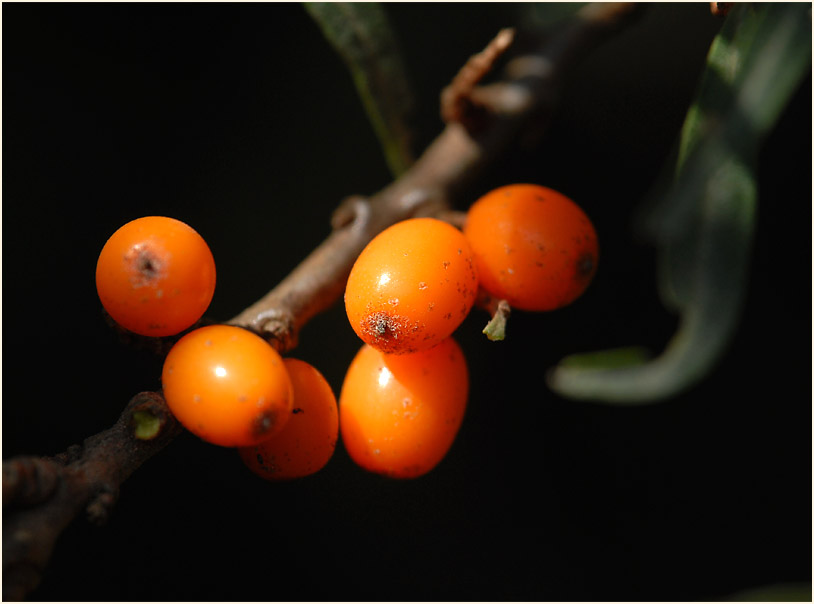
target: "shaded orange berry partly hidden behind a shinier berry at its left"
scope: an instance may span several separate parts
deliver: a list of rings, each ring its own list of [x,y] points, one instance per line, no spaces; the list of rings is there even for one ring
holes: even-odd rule
[[[322,469],[339,437],[339,412],[331,386],[305,361],[284,362],[294,388],[291,417],[276,436],[238,449],[252,472],[272,481],[301,478]]]

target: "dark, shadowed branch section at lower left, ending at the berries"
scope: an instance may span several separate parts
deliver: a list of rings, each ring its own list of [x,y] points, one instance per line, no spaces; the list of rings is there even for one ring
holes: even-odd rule
[[[57,537],[84,509],[103,523],[120,485],[181,432],[161,395],[134,396],[112,428],[54,457],[3,462],[3,600],[40,581]]]

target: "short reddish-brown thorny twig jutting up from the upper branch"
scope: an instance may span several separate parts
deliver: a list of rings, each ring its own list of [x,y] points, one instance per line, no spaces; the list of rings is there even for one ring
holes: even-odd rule
[[[476,86],[492,70],[497,59],[511,46],[514,29],[500,30],[489,45],[470,57],[452,82],[441,91],[441,118],[446,124],[460,123],[469,132],[485,127],[490,114],[489,98],[479,98]]]

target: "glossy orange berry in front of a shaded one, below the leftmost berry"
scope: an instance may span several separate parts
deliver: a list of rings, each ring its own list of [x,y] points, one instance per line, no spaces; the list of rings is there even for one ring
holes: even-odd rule
[[[210,325],[186,334],[167,355],[161,382],[178,421],[215,445],[256,445],[279,434],[291,416],[283,359],[240,327]]]

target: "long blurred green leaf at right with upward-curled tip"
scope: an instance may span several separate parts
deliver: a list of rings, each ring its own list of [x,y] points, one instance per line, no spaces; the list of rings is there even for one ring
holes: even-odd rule
[[[681,314],[661,355],[597,367],[574,355],[549,375],[564,396],[620,404],[664,400],[697,383],[735,332],[749,270],[760,144],[810,69],[810,4],[739,4],[710,48],[682,130],[676,181],[653,208],[665,305]]]

